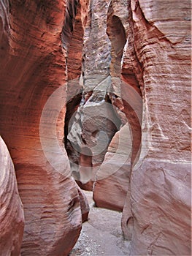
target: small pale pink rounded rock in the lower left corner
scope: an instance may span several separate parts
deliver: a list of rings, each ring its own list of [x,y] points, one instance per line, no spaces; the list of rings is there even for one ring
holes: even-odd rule
[[[12,159],[1,137],[0,166],[0,254],[20,255],[24,229],[23,205],[18,195],[18,184]]]

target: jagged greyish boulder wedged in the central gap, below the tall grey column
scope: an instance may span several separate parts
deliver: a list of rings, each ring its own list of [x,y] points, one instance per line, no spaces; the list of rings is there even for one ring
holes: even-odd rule
[[[120,119],[108,102],[108,86],[110,80],[106,78],[93,89],[88,99],[86,95],[85,99],[82,98],[74,120],[71,118],[72,125],[67,136],[69,159],[72,172],[82,188],[95,181],[110,140],[120,127]]]

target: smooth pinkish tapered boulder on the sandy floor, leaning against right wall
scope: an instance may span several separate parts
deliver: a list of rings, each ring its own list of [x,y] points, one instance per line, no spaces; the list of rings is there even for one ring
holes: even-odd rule
[[[112,138],[104,162],[96,173],[93,200],[96,206],[123,211],[130,184],[131,131],[128,123]]]

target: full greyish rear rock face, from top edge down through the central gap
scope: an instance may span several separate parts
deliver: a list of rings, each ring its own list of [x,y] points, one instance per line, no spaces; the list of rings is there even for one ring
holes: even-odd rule
[[[82,52],[84,91],[80,106],[71,117],[67,136],[67,151],[74,177],[80,187],[90,190],[107,146],[119,128],[119,124],[110,121],[115,113],[107,96],[110,86],[110,40],[106,34],[108,4],[89,2]]]

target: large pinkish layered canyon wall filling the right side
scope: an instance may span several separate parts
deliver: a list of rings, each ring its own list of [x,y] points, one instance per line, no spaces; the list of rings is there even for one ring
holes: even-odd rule
[[[139,0],[129,8],[143,118],[123,229],[131,255],[190,255],[190,1]],[[131,39],[123,72],[133,67],[130,47]]]

